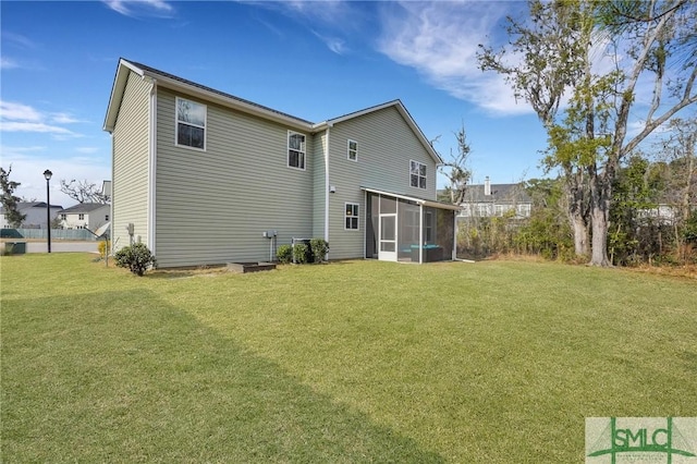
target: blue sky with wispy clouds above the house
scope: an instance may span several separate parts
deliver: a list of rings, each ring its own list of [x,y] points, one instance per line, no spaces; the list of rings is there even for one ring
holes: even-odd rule
[[[477,68],[522,2],[2,1],[0,154],[16,194],[110,179],[102,131],[123,57],[314,122],[401,99],[436,149],[463,124],[474,181],[540,176],[545,133]],[[442,184],[442,182],[441,182]]]

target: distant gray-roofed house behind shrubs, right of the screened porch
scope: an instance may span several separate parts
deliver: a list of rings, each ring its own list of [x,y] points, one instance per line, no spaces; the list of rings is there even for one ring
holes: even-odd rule
[[[460,217],[493,217],[514,212],[517,219],[528,218],[533,199],[523,184],[492,184],[487,176],[484,184],[468,185]]]

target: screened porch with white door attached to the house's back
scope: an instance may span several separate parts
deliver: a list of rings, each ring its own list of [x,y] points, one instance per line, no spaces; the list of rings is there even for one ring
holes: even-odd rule
[[[386,261],[451,260],[458,206],[364,188],[366,258]]]

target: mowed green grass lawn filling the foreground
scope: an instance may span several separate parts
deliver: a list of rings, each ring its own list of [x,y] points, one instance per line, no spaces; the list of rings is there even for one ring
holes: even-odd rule
[[[697,283],[523,261],[137,278],[0,258],[2,462],[584,461],[697,416]]]

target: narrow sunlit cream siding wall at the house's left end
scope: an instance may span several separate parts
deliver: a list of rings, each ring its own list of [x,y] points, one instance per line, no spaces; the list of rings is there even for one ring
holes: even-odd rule
[[[149,98],[150,85],[131,73],[112,132],[113,249],[129,245],[126,227],[148,243]]]

